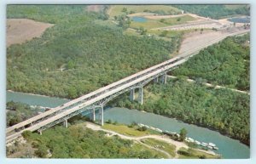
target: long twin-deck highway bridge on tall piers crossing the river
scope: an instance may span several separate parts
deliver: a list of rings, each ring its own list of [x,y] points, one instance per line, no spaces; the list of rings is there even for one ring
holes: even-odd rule
[[[116,98],[122,93],[130,92],[130,99],[135,100],[135,92],[138,90],[138,102],[143,105],[143,86],[154,80],[154,82],[166,83],[166,73],[177,68],[178,65],[183,64],[189,57],[197,54],[202,48],[206,48],[212,43],[219,42],[225,37],[241,35],[247,33],[249,30],[242,30],[223,37],[206,42],[199,48],[191,49],[189,52],[179,54],[177,57],[166,60],[159,65],[149,67],[144,71],[137,72],[134,75],[127,76],[118,82],[113,82],[106,87],[99,88],[92,93],[85,94],[78,99],[73,99],[63,105],[57,106],[51,110],[45,111],[38,116],[27,119],[12,127],[6,129],[6,143],[9,143],[18,137],[24,131],[38,131],[42,133],[45,129],[53,127],[61,122],[67,127],[67,120],[73,116],[77,116],[84,111],[91,111],[93,120],[96,120],[96,110],[99,110],[100,124],[103,125],[103,107],[108,101]]]

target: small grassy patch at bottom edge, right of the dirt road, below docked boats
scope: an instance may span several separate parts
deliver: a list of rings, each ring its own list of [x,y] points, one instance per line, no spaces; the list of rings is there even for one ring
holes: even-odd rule
[[[181,148],[179,151],[185,152],[187,155],[178,155],[179,159],[200,159],[200,158],[206,158],[206,159],[216,159],[218,156],[213,156],[208,153],[199,151],[199,150],[192,150],[192,149],[185,149]]]

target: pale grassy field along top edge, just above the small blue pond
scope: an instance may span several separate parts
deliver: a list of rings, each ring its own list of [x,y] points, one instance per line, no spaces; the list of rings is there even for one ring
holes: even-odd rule
[[[180,12],[179,9],[173,8],[172,6],[167,5],[113,5],[109,9],[109,16],[114,17],[120,14],[124,14],[122,12],[123,8],[127,8],[128,13],[142,13],[146,10],[151,11],[152,13],[157,11],[168,12]]]

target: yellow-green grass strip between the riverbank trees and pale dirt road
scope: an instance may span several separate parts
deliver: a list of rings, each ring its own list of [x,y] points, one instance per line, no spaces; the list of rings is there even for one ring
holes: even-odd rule
[[[136,136],[136,137],[141,137],[148,134],[160,134],[158,132],[155,132],[149,129],[146,131],[138,131],[137,127],[127,127],[126,125],[120,125],[120,124],[113,125],[113,124],[105,123],[103,128],[112,130],[116,133],[120,133],[128,136]]]

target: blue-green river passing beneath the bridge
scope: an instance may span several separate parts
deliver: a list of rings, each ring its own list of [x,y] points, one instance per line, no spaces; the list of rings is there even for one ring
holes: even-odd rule
[[[32,95],[27,93],[7,92],[7,101],[23,102],[28,105],[39,105],[55,107],[68,101],[68,99],[59,99],[46,96]],[[104,120],[117,121],[130,124],[131,122],[143,123],[151,127],[158,127],[162,130],[179,133],[181,128],[186,128],[188,136],[200,142],[212,142],[217,144],[216,152],[225,159],[249,158],[250,149],[247,145],[241,144],[236,139],[230,139],[218,132],[204,127],[197,127],[188,123],[179,122],[176,119],[166,116],[155,115],[138,110],[129,110],[125,108],[107,108],[104,110]]]

